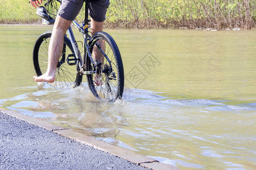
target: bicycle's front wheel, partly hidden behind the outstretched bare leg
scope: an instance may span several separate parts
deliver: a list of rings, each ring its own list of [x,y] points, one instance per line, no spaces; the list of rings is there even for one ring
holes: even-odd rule
[[[48,46],[52,32],[45,32],[38,37],[33,49],[33,63],[36,75],[46,73],[48,65]],[[68,62],[69,61],[69,62]],[[71,41],[64,36],[63,52],[57,63],[55,82],[50,83],[56,88],[77,87],[82,82],[82,75],[77,74],[78,61],[75,59]]]

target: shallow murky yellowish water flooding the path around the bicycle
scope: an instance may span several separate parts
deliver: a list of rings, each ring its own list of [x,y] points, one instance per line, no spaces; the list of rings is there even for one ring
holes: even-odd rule
[[[0,106],[181,169],[255,169],[256,31],[107,30],[126,88],[101,103],[86,82],[32,79],[34,42],[51,27],[0,28]]]

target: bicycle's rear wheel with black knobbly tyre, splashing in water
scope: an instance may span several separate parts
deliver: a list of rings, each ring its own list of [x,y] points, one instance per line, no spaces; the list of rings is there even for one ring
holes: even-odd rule
[[[97,32],[89,41],[89,51],[96,66],[96,73],[87,74],[90,91],[99,99],[115,101],[122,97],[125,83],[123,63],[118,46],[106,32]],[[88,55],[85,59],[86,71],[93,65]]]

